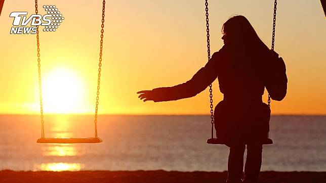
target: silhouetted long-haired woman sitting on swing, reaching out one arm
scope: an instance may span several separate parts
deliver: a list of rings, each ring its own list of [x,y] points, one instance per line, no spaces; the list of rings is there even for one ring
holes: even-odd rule
[[[223,47],[189,81],[138,91],[138,94],[144,102],[190,98],[218,78],[224,98],[216,106],[214,118],[217,138],[230,148],[226,182],[241,182],[245,145],[247,160],[243,182],[258,182],[261,142],[268,138],[270,118],[270,109],[262,102],[268,78],[266,69],[278,55],[268,49],[243,16],[227,20],[222,32]]]

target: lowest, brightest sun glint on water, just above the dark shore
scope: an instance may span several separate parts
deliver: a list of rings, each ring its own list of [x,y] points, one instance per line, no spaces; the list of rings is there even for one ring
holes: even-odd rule
[[[42,163],[34,165],[34,171],[79,171],[84,168],[80,163]]]

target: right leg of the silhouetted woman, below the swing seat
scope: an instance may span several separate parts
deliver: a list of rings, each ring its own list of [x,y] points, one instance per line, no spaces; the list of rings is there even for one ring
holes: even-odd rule
[[[245,165],[245,179],[243,182],[257,183],[262,165],[262,145],[247,145],[247,160]]]

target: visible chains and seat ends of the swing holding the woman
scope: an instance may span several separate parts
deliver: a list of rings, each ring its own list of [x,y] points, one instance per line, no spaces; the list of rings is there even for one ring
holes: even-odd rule
[[[276,22],[276,5],[277,0],[274,2],[274,16],[273,16],[273,30],[272,30],[272,46],[271,50],[274,50],[274,39],[275,39],[275,22]],[[210,28],[209,28],[209,14],[208,14],[208,0],[205,0],[205,7],[206,7],[206,31],[207,31],[207,54],[208,54],[208,61],[211,59],[211,50],[210,50]],[[211,124],[212,124],[212,131],[211,131],[211,138],[207,140],[207,144],[225,144],[224,141],[218,138],[214,138],[214,110],[213,110],[213,89],[212,84],[210,84],[210,107],[211,107]],[[268,95],[268,107],[270,108],[270,95]],[[269,138],[263,139],[261,141],[262,144],[273,144],[273,141]]]

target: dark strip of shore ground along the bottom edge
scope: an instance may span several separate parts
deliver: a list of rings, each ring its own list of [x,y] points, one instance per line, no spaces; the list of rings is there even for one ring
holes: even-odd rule
[[[0,182],[216,182],[224,183],[227,172],[181,171],[0,171]],[[326,172],[264,171],[260,183],[326,183]]]

